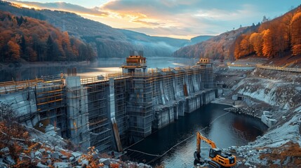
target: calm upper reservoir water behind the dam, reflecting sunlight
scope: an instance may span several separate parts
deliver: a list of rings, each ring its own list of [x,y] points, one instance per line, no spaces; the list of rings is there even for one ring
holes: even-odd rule
[[[175,58],[175,57],[147,57],[147,67],[154,68],[168,68],[177,66],[192,66],[196,64],[198,59],[189,58]],[[0,71],[0,82],[13,80],[28,80],[40,78],[41,76],[58,75],[61,72],[67,74],[67,69],[76,68],[78,76],[81,78],[88,78],[105,73],[119,73],[122,71],[120,66],[125,64],[126,58],[102,58],[97,62],[81,65],[67,66],[62,63],[61,66],[39,66],[29,68],[15,68],[15,69],[2,69]],[[67,64],[67,63],[66,63]]]

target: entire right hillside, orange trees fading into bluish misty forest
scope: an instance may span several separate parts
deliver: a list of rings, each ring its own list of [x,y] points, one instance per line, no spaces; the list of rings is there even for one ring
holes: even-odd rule
[[[272,59],[279,65],[301,59],[301,6],[257,25],[241,27],[195,45],[180,48],[175,57],[233,60],[248,56]],[[299,60],[299,61],[298,61]]]

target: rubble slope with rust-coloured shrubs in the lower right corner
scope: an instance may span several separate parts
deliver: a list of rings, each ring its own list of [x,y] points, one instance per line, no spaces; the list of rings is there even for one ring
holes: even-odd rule
[[[257,137],[247,146],[225,149],[236,153],[237,167],[295,167],[301,164],[301,106],[290,113],[293,115],[283,119],[285,122],[278,123],[264,136]]]

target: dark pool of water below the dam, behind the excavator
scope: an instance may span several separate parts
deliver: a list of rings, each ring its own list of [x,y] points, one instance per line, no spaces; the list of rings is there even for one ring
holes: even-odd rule
[[[201,131],[204,136],[213,140],[218,148],[228,148],[229,146],[246,145],[267,130],[260,120],[227,113],[223,110],[226,107],[225,105],[208,104],[193,113],[186,114],[185,117],[179,118],[174,123],[128,148],[128,158],[153,166],[193,167],[197,131]],[[175,147],[172,148],[173,146]],[[172,149],[170,150],[170,148]],[[201,142],[203,158],[208,158],[209,148],[208,144]],[[164,153],[166,154],[163,155]]]

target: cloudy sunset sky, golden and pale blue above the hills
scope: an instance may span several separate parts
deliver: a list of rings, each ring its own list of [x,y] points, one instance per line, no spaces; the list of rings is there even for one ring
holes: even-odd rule
[[[283,15],[297,0],[7,0],[24,6],[66,10],[105,25],[151,36],[190,39],[256,25]]]

